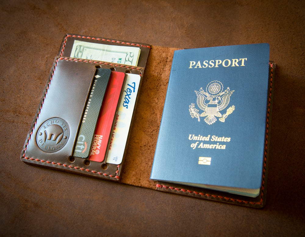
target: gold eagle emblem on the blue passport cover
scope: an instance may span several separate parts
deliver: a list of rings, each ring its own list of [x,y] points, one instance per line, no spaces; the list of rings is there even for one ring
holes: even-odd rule
[[[219,117],[219,121],[224,122],[228,115],[235,110],[235,106],[232,105],[229,107],[224,114],[221,114],[219,111],[224,110],[228,106],[233,92],[230,91],[229,87],[223,91],[223,85],[220,81],[211,81],[206,86],[206,91],[202,87],[199,91],[195,91],[197,105],[203,112],[199,114],[199,110],[195,108],[195,104],[191,103],[188,109],[191,117],[196,117],[198,122],[200,122],[200,117],[206,117],[204,121],[209,125],[216,122],[216,117]]]

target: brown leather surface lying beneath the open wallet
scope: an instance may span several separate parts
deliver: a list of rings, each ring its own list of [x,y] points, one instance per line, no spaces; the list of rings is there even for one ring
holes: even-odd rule
[[[303,1],[1,1],[0,235],[304,236],[304,12]],[[67,32],[174,48],[269,43],[276,75],[266,206],[256,210],[21,162]],[[155,109],[166,83],[143,82],[139,98],[152,98],[148,108]],[[144,111],[139,114],[146,123],[136,126],[149,127]],[[150,128],[132,136],[154,144],[151,134],[159,128]]]

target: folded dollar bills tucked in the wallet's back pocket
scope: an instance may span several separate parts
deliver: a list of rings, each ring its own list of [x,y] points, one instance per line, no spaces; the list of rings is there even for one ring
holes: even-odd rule
[[[109,63],[120,63],[137,66],[140,48],[130,46],[103,45],[75,40],[71,58],[99,60]]]

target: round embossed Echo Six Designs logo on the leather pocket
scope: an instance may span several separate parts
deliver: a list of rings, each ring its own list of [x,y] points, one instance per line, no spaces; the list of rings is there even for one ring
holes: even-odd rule
[[[63,148],[69,138],[69,126],[61,118],[51,118],[38,129],[36,141],[45,152],[56,152]]]

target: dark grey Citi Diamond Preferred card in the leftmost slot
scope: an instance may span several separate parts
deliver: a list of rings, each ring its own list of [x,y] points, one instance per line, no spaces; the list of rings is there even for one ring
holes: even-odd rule
[[[95,125],[99,117],[110,74],[111,69],[96,69],[74,145],[73,156],[87,158],[89,155]]]

